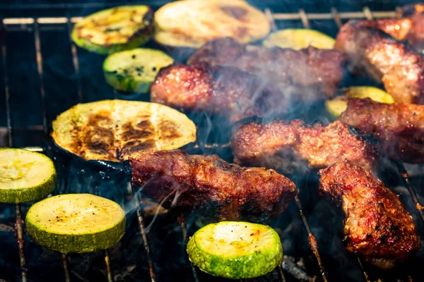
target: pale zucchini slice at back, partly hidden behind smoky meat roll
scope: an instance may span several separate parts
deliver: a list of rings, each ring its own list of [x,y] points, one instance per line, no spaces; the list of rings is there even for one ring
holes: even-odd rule
[[[317,30],[287,29],[273,32],[263,42],[265,47],[280,47],[300,50],[307,47],[333,49],[336,40]]]

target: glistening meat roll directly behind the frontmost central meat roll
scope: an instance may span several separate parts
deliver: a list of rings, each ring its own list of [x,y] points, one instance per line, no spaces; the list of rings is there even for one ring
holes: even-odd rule
[[[349,159],[371,170],[379,161],[379,144],[343,123],[252,121],[235,128],[231,138],[237,164],[265,166],[284,173],[324,168]]]

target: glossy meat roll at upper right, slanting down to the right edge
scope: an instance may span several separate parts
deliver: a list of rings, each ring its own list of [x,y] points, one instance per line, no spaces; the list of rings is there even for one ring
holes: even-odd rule
[[[350,20],[338,32],[335,48],[346,55],[351,71],[383,82],[396,102],[424,103],[424,59],[404,43]]]

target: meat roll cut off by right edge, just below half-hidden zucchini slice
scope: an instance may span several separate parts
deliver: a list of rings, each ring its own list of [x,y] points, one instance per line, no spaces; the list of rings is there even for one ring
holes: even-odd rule
[[[339,121],[374,133],[388,157],[412,164],[424,162],[424,105],[349,99]]]

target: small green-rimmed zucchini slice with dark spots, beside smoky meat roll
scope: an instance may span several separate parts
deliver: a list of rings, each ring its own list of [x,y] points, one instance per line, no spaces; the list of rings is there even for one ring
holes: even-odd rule
[[[162,51],[138,48],[108,56],[103,71],[106,82],[115,89],[146,93],[160,68],[173,61]]]

